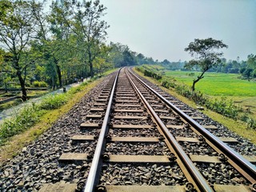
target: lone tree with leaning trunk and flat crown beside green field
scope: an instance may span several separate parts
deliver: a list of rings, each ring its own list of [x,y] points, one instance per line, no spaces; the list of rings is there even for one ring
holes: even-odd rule
[[[185,48],[185,51],[194,57],[194,59],[187,62],[184,66],[186,69],[192,69],[198,67],[202,74],[197,79],[193,80],[192,90],[194,91],[195,84],[202,78],[207,70],[214,66],[221,65],[222,52],[218,50],[221,48],[227,48],[226,44],[222,41],[215,40],[213,38],[198,39],[195,38],[194,42],[190,42],[189,46]]]

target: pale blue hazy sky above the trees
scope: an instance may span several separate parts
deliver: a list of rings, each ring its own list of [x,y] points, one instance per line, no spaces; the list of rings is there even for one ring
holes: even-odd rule
[[[190,60],[194,38],[222,40],[224,58],[256,54],[256,0],[101,0],[107,42],[120,42],[146,57]]]

